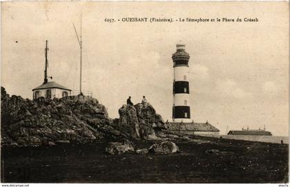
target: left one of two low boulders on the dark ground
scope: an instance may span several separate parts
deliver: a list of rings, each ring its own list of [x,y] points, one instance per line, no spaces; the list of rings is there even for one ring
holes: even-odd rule
[[[122,143],[110,142],[105,151],[110,155],[121,155],[124,152],[134,152],[135,146],[128,139],[124,139]]]

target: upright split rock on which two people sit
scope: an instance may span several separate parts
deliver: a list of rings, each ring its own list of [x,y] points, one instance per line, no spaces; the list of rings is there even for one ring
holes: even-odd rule
[[[135,139],[157,139],[164,121],[151,104],[124,105],[119,109],[119,129]]]

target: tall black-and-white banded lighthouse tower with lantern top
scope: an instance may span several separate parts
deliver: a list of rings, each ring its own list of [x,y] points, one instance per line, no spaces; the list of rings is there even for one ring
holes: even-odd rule
[[[176,45],[173,59],[173,121],[191,122],[191,106],[189,92],[189,53],[184,44]]]

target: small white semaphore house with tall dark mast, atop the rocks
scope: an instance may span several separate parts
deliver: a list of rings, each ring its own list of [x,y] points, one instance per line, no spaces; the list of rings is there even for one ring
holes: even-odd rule
[[[48,78],[52,79],[52,77],[48,77],[47,70],[48,70],[48,41],[46,41],[46,68],[44,70],[44,82],[41,84],[41,86],[38,86],[37,88],[34,88],[32,90],[33,99],[37,99],[39,97],[53,99],[70,96],[72,90],[64,86],[61,86],[59,83],[56,83],[54,81],[48,82]]]

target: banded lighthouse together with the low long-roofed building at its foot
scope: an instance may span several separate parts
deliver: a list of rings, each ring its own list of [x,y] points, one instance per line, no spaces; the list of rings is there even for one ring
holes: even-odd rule
[[[172,122],[166,121],[166,128],[174,132],[189,135],[218,135],[220,130],[208,121],[195,123],[191,114],[191,95],[189,92],[189,53],[185,51],[184,44],[176,45],[173,59],[173,108]]]

